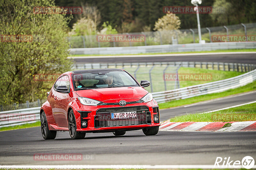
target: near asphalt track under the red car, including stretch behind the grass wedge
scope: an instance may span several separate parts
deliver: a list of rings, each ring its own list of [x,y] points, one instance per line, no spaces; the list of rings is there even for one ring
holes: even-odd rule
[[[160,110],[161,120],[187,112],[203,112],[255,101],[255,93],[246,93],[211,102]],[[88,133],[85,139],[72,140],[68,132],[57,132],[55,140],[44,140],[40,127],[0,132],[0,165],[214,165],[216,157],[242,160],[256,158],[256,132],[184,132],[159,131],[144,136],[128,131],[124,136],[112,133]],[[38,153],[78,153],[82,160],[38,161]]]

